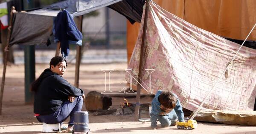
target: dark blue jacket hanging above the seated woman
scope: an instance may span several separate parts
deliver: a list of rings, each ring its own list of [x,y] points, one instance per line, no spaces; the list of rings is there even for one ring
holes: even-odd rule
[[[61,42],[62,57],[67,58],[70,50],[69,44],[82,45],[83,34],[77,29],[73,16],[64,10],[55,17],[53,29],[55,39]]]

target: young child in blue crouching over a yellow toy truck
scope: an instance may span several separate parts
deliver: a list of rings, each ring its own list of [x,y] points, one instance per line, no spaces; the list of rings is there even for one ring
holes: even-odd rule
[[[184,114],[180,100],[170,91],[157,91],[152,100],[150,114],[151,129],[157,129],[157,119],[162,127],[175,126],[175,120],[184,122]]]

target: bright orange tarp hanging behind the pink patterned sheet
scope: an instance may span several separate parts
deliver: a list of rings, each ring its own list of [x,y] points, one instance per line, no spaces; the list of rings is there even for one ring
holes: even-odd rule
[[[255,0],[154,0],[154,2],[177,17],[206,31],[233,39],[231,41],[236,43],[239,43],[239,40],[244,41],[256,22]],[[139,23],[134,25],[127,23],[128,61],[139,28]],[[244,46],[256,49],[256,29],[248,40],[251,41],[246,42]]]

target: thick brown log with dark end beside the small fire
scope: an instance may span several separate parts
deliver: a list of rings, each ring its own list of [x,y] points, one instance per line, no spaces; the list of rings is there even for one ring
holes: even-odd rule
[[[90,91],[84,100],[87,111],[106,110],[112,105],[112,98],[96,91]]]

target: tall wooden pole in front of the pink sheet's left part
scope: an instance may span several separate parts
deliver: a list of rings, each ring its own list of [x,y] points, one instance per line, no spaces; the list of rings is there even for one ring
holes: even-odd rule
[[[148,9],[149,9],[149,0],[146,0],[146,8],[145,8],[145,14],[144,14],[144,23],[143,23],[143,34],[142,34],[142,42],[141,42],[141,48],[140,48],[140,65],[139,65],[139,77],[142,76],[142,68],[143,68],[143,59],[145,54],[145,43],[146,43],[146,30],[147,30],[147,23],[148,23]],[[135,106],[135,120],[139,120],[139,114],[140,114],[140,83],[141,79],[138,79],[137,84],[137,94],[136,94],[136,106]]]

